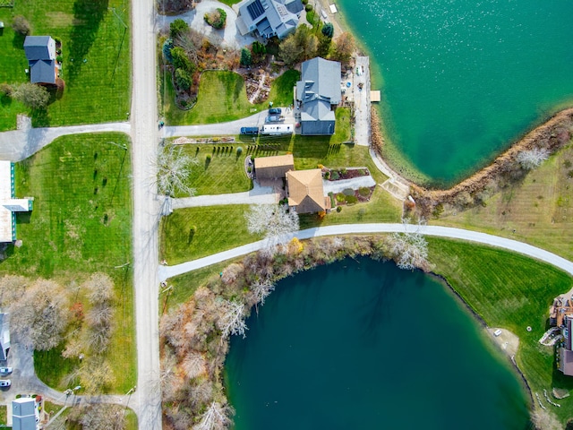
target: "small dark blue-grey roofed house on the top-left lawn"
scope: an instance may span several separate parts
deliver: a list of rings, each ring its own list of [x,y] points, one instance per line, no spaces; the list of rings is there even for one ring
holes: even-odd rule
[[[30,82],[56,84],[56,41],[49,36],[26,36],[24,52],[30,65]]]

